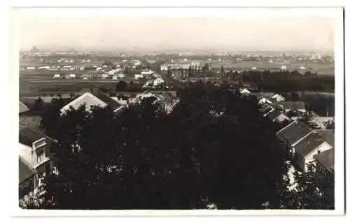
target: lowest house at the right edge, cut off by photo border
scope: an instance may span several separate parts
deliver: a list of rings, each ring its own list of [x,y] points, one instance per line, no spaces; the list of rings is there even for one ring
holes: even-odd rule
[[[334,175],[334,148],[314,155],[316,173]]]

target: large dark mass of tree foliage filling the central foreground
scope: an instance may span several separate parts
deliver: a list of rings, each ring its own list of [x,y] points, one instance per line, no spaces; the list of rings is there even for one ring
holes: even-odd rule
[[[46,208],[281,208],[284,152],[255,96],[202,83],[179,96],[170,114],[153,98],[119,114],[50,110],[59,174],[45,180]]]

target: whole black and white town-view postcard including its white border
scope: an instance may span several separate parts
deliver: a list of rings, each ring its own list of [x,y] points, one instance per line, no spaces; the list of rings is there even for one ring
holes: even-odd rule
[[[342,8],[12,15],[21,211],[344,213]]]

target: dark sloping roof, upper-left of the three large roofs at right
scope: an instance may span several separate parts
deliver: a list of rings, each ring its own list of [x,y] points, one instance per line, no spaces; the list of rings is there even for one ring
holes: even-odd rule
[[[306,136],[312,131],[304,122],[294,121],[276,133],[280,140],[288,141],[293,145],[302,137]]]

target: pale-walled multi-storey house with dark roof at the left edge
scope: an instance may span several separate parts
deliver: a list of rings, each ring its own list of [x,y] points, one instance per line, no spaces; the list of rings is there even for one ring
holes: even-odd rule
[[[40,179],[49,173],[53,167],[52,157],[55,154],[57,141],[38,131],[24,127],[19,131],[20,157],[36,170],[37,178],[34,185],[40,184]]]

